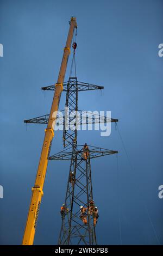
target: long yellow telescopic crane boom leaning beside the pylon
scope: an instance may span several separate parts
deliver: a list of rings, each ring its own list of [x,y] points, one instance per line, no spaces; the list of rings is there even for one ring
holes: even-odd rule
[[[68,55],[70,54],[73,31],[75,27],[77,27],[76,18],[72,17],[70,22],[70,29],[67,36],[66,46],[64,48],[64,55],[62,57],[58,81],[55,87],[55,93],[53,97],[51,112],[49,115],[49,121],[48,121],[47,129],[45,129],[45,138],[42,145],[42,151],[40,156],[39,167],[37,169],[35,185],[32,188],[32,199],[30,202],[22,245],[33,245],[33,242],[34,242],[36,223],[39,215],[41,198],[43,196],[43,185],[45,182],[48,156],[51,150],[52,139],[54,137],[54,126],[55,126],[55,121],[57,117],[60,96],[63,90],[62,84],[64,83]]]

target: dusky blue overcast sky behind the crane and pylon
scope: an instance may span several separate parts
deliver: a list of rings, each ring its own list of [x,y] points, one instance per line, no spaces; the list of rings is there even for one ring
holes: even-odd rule
[[[34,185],[44,125],[24,119],[49,113],[71,16],[77,17],[77,76],[104,86],[79,94],[79,109],[111,111],[119,119],[128,158],[115,125],[111,136],[80,131],[78,142],[118,150],[92,160],[93,194],[99,208],[99,244],[163,244],[161,0],[0,2],[1,199],[0,242],[21,244]],[[65,80],[70,73],[68,62]],[[60,109],[65,105],[65,94]],[[51,155],[62,149],[55,132]],[[49,162],[35,244],[56,244],[68,162]],[[118,172],[118,179],[117,179]]]

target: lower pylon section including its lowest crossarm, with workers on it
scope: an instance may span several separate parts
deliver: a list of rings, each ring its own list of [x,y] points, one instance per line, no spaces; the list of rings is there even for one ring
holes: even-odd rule
[[[91,163],[92,158],[116,154],[117,151],[88,146],[89,156],[84,156],[84,145],[72,147],[49,157],[49,160],[71,160],[70,172],[67,181],[65,207],[68,213],[62,217],[59,245],[96,245],[96,231],[93,227],[93,216],[87,215],[87,224],[80,219],[80,205],[89,206],[93,198]],[[70,182],[70,175],[73,172],[74,181]]]

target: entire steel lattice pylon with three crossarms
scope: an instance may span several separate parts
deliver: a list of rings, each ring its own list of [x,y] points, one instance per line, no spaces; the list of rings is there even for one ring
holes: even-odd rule
[[[99,115],[96,117],[93,114],[87,117],[86,114],[88,112],[85,112],[84,116],[82,115],[82,119],[80,117],[82,111],[78,109],[78,92],[103,89],[103,87],[78,82],[77,77],[70,77],[63,86],[66,92],[65,116],[63,120],[63,144],[65,149],[49,157],[49,160],[70,161],[65,196],[65,208],[68,208],[69,211],[62,218],[58,243],[59,245],[96,245],[96,230],[93,227],[93,217],[87,215],[87,225],[80,219],[80,205],[87,207],[90,200],[93,199],[90,160],[100,156],[115,154],[117,151],[92,147],[90,145],[87,145],[87,150],[85,151],[84,145],[77,146],[77,130],[78,126],[83,123],[88,125],[90,123],[116,122],[118,120]],[[43,87],[42,90],[55,90],[55,86]],[[67,120],[67,117],[69,117],[69,120]],[[41,117],[24,120],[24,123],[47,124],[48,118],[49,114],[46,114]],[[58,121],[62,120],[59,114],[57,119]],[[72,174],[73,182],[70,182]]]

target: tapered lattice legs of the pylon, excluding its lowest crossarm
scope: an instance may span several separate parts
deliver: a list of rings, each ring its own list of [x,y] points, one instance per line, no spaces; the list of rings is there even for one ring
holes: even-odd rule
[[[74,173],[74,182],[70,175]],[[87,216],[87,224],[80,219],[80,205],[89,205],[93,198],[90,158],[80,159],[74,154],[67,182],[65,197],[68,214],[62,217],[59,245],[96,245],[96,231],[93,227],[93,217]]]

